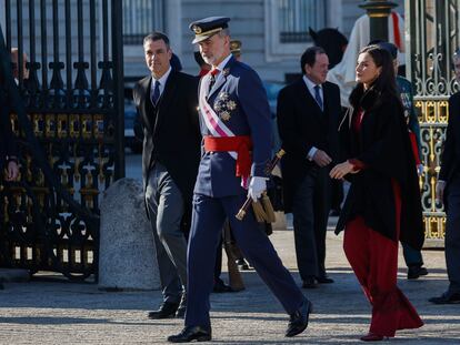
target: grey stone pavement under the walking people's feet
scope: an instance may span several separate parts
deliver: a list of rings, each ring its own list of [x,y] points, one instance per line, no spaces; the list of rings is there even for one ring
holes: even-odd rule
[[[284,264],[296,271],[292,231],[271,236]],[[328,232],[327,266],[334,284],[306,291],[313,302],[308,329],[283,336],[288,317],[253,271],[244,272],[247,290],[212,294],[214,344],[362,344],[370,319],[368,302],[341,247],[342,236]],[[430,274],[406,280],[400,257],[399,286],[426,325],[397,333],[384,344],[460,344],[460,305],[437,306],[427,300],[447,287],[443,252],[423,251]],[[1,272],[0,272],[1,275]],[[227,275],[224,275],[227,278]],[[161,301],[153,292],[101,292],[96,284],[69,283],[39,273],[29,283],[6,283],[0,291],[0,344],[164,344],[182,327],[179,319],[151,321],[147,312]]]

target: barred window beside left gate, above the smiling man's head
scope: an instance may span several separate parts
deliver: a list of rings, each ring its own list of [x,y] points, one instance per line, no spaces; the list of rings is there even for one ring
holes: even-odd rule
[[[123,43],[142,44],[146,34],[163,30],[163,0],[123,0]]]

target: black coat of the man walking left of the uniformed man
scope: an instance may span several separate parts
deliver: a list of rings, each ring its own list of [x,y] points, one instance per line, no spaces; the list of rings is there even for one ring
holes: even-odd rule
[[[198,85],[192,75],[171,71],[157,109],[150,101],[151,75],[133,89],[143,129],[142,177],[147,186],[154,162],[164,165],[189,207],[200,160]]]

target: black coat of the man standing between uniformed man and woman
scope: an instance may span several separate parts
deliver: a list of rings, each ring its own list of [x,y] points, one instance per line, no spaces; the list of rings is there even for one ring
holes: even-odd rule
[[[286,150],[281,161],[284,212],[291,211],[296,187],[310,169],[318,166],[307,159],[310,149],[323,150],[333,161],[339,154],[340,90],[338,85],[326,82],[322,91],[324,111],[321,111],[303,79],[286,87],[278,95],[278,129]]]

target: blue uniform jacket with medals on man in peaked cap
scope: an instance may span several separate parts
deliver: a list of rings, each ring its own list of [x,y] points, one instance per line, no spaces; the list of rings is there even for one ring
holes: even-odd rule
[[[270,108],[262,82],[250,67],[234,58],[229,60],[221,74],[204,97],[234,135],[251,136],[251,176],[267,176],[272,133]],[[207,78],[210,75],[204,75],[201,83]],[[201,134],[211,135],[203,115],[200,109]],[[246,194],[241,177],[236,176],[236,160],[228,152],[206,152],[202,149],[194,193],[213,197]]]

